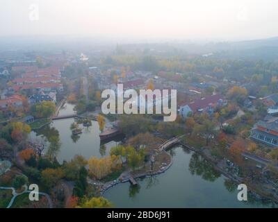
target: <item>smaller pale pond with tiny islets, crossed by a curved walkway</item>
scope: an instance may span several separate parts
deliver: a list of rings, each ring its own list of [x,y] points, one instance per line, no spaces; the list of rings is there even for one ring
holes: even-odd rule
[[[74,105],[65,103],[59,115],[67,115],[74,113]],[[92,126],[83,127],[81,135],[72,135],[70,125],[74,123],[74,119],[55,120],[40,130],[35,130],[31,133],[32,139],[45,140],[49,148],[43,153],[56,156],[58,162],[63,160],[72,160],[74,155],[83,155],[87,160],[95,155],[97,157],[109,155],[110,149],[116,146],[118,141],[111,141],[106,144],[101,144],[99,139],[99,124],[97,121],[92,121]],[[53,143],[54,146],[50,146]]]

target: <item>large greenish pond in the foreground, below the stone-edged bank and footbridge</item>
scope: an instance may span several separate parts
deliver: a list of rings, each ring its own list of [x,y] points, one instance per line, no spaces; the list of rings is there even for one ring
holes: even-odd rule
[[[237,199],[238,190],[197,153],[177,146],[169,151],[170,169],[158,176],[115,185],[104,193],[115,207],[272,207],[271,203]]]

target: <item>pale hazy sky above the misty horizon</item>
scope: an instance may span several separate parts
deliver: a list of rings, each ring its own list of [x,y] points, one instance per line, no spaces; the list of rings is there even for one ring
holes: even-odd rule
[[[278,36],[277,0],[0,0],[0,35]]]

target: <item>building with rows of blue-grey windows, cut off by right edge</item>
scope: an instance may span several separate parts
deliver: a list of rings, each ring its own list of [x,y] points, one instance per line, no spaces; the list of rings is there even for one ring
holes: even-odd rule
[[[278,147],[278,117],[258,121],[251,130],[250,138],[268,146]]]

